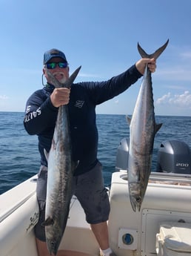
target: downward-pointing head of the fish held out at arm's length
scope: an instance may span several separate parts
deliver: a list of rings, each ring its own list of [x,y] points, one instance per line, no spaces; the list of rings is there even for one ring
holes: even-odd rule
[[[141,190],[139,183],[130,183],[129,186],[129,193],[130,193],[130,203],[133,208],[133,211],[140,211],[141,204],[144,199],[143,191]]]

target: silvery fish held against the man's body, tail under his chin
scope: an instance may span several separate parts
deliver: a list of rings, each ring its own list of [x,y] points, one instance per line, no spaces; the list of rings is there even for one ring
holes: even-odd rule
[[[73,72],[64,84],[61,84],[49,70],[47,70],[47,75],[56,88],[70,88],[80,69],[81,66]],[[61,105],[58,108],[53,141],[46,157],[48,168],[47,198],[43,224],[47,249],[50,255],[52,253],[56,255],[67,225],[72,196],[73,172],[78,165],[73,160],[67,105]]]

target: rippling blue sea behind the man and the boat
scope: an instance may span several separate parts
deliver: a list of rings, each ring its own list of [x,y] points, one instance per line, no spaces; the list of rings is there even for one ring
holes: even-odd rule
[[[38,173],[38,140],[24,130],[24,113],[0,112],[0,194]],[[156,169],[161,142],[181,140],[191,148],[191,116],[155,116],[163,125],[155,135],[152,171]],[[110,186],[115,171],[118,145],[129,137],[124,115],[97,115],[98,159],[103,165],[104,182]]]

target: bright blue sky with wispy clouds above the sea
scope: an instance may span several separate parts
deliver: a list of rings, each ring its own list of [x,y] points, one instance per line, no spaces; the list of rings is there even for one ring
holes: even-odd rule
[[[156,115],[191,116],[191,1],[0,0],[0,111],[24,111],[42,88],[46,50],[64,51],[76,82],[104,81],[170,39],[153,73]],[[96,107],[133,114],[142,79]],[[44,81],[45,82],[45,81]]]

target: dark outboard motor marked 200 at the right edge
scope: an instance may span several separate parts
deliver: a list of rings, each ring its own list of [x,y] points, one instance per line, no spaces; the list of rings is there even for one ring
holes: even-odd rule
[[[175,174],[191,174],[191,150],[185,143],[169,140],[161,143],[158,150],[156,171]]]

